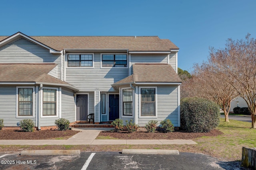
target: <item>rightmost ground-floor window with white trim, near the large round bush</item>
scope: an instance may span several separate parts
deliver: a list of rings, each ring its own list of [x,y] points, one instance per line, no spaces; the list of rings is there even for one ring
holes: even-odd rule
[[[140,88],[140,115],[156,116],[156,88]]]

